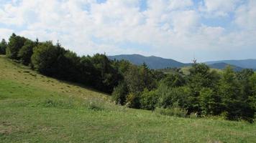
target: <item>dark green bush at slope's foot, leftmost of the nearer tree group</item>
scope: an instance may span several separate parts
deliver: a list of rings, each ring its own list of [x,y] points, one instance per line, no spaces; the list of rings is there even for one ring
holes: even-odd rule
[[[124,105],[127,102],[127,94],[128,89],[127,85],[124,82],[118,84],[117,87],[114,87],[114,91],[112,93],[112,99],[116,104]]]

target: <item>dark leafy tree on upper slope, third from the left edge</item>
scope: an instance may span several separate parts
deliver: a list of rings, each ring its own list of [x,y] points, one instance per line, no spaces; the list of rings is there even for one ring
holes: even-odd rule
[[[28,65],[31,63],[31,56],[33,54],[33,49],[35,46],[35,42],[29,39],[24,42],[24,46],[22,46],[22,49],[20,49],[18,53],[18,57],[22,64]]]

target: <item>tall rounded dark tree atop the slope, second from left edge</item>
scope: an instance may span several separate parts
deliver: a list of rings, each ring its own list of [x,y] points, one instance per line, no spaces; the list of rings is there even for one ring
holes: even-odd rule
[[[22,46],[24,46],[26,40],[27,39],[22,36],[12,34],[12,36],[9,38],[9,43],[7,44],[6,56],[8,56],[10,59],[19,59],[19,50],[22,49]]]

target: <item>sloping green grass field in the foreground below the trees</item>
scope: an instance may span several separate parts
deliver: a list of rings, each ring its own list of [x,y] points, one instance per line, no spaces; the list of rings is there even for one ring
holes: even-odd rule
[[[256,124],[119,107],[0,56],[0,142],[256,142]]]

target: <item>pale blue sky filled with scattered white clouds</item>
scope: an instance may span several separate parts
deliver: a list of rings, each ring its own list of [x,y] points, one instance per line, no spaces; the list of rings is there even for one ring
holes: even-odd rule
[[[256,59],[255,7],[256,0],[0,0],[0,38],[60,41],[78,55]]]

